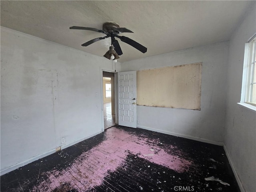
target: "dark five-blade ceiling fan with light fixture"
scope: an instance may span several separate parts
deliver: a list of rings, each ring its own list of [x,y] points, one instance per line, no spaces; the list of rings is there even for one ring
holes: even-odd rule
[[[125,42],[125,43],[129,44],[130,46],[133,46],[134,48],[138,49],[142,53],[147,52],[147,48],[144,47],[143,45],[139,44],[138,42],[136,42],[136,41],[134,41],[134,40],[132,40],[128,37],[125,37],[125,36],[119,36],[118,34],[120,34],[120,33],[124,33],[124,32],[133,33],[133,32],[131,30],[128,30],[127,28],[124,28],[124,27],[120,28],[119,25],[117,23],[114,23],[114,22],[104,23],[103,26],[102,26],[102,30],[96,29],[96,28],[90,28],[90,27],[79,27],[79,26],[72,26],[72,27],[70,27],[70,29],[90,30],[90,31],[96,31],[96,32],[99,32],[99,33],[106,34],[106,36],[92,39],[92,40],[82,44],[82,46],[88,46],[88,45],[90,45],[94,42],[97,42],[99,40],[103,40],[105,38],[111,37],[111,45],[112,45],[111,47],[114,46],[114,48],[110,47],[110,52],[111,52],[112,49],[114,49],[118,55],[122,55],[123,52],[121,50],[121,47],[120,47],[118,41],[115,39],[115,37],[116,37],[116,38],[119,38],[122,42]],[[116,57],[114,59],[116,59]]]

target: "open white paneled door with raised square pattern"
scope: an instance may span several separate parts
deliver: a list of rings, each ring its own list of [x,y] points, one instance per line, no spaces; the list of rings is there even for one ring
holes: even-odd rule
[[[118,72],[118,125],[136,128],[136,71]]]

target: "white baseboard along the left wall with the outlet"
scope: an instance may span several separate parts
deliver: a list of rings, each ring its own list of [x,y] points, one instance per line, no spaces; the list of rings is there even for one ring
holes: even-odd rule
[[[65,148],[68,148],[69,146],[72,146],[72,145],[77,144],[77,143],[79,143],[79,142],[81,142],[81,141],[83,141],[83,140],[86,140],[86,139],[91,138],[91,137],[93,137],[93,136],[95,136],[95,135],[98,135],[98,134],[100,134],[101,132],[102,132],[102,131],[99,131],[99,132],[96,132],[96,133],[91,134],[91,135],[89,135],[89,136],[86,136],[85,138],[81,138],[81,139],[76,140],[76,141],[74,141],[74,142],[70,142],[70,143],[68,143],[68,144],[64,144],[64,145],[60,146],[60,148],[61,148],[61,150],[62,150],[62,149],[65,149]],[[18,169],[18,168],[20,168],[20,167],[22,167],[22,166],[25,166],[25,165],[27,165],[27,164],[30,164],[30,163],[32,163],[32,162],[34,162],[34,161],[36,161],[36,160],[38,160],[38,159],[40,159],[40,158],[44,158],[44,157],[46,157],[46,156],[48,156],[48,155],[50,155],[50,154],[53,154],[53,153],[55,153],[55,152],[56,152],[56,149],[52,149],[52,150],[50,150],[50,151],[48,151],[48,152],[46,152],[46,153],[40,154],[40,155],[38,155],[38,156],[32,157],[32,158],[30,158],[30,159],[28,159],[28,160],[25,160],[25,161],[23,161],[23,162],[20,162],[20,163],[17,163],[17,164],[15,164],[15,165],[12,165],[12,166],[10,166],[10,167],[8,167],[8,168],[5,168],[5,169],[1,170],[1,171],[0,171],[0,175],[2,176],[2,175],[6,174],[6,173],[8,173],[8,172],[11,172],[11,171],[13,171],[13,170],[16,170],[16,169]]]

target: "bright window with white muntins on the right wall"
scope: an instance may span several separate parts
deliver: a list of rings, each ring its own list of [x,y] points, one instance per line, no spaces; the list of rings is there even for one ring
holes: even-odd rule
[[[245,44],[241,103],[256,106],[256,34]],[[240,103],[240,104],[241,104]],[[251,107],[249,107],[251,108]],[[255,107],[252,107],[255,110]]]

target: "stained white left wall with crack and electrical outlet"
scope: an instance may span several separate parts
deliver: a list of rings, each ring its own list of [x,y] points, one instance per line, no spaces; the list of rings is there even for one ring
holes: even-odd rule
[[[1,28],[1,174],[102,132],[102,69],[112,62]]]

